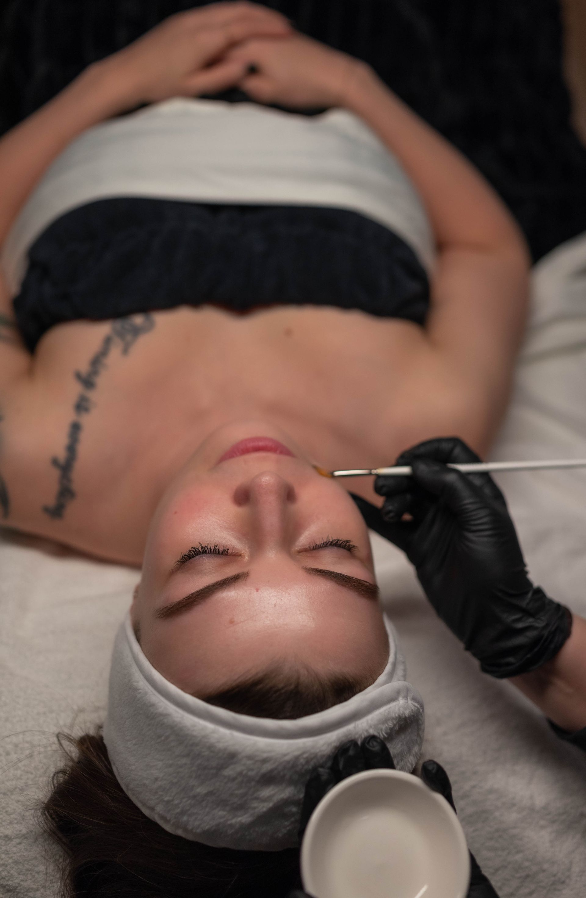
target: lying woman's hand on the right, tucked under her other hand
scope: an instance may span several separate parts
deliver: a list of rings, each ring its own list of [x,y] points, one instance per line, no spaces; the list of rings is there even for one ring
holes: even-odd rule
[[[354,77],[366,67],[359,59],[295,32],[281,40],[244,40],[226,54],[226,60],[252,69],[238,87],[253,100],[290,109],[345,105]]]

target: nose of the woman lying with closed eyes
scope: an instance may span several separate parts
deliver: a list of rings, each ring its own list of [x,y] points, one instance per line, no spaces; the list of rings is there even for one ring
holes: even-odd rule
[[[258,548],[274,548],[286,540],[296,498],[292,484],[275,471],[261,471],[236,489],[235,502],[248,508]]]

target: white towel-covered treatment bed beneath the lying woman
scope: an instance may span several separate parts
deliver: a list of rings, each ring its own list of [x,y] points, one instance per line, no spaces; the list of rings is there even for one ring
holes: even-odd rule
[[[534,272],[534,311],[493,459],[586,456],[586,235]],[[586,615],[586,471],[499,478],[537,583]],[[408,677],[426,703],[424,757],[452,779],[470,848],[502,898],[583,898],[586,755],[506,682],[480,674],[374,536]],[[34,807],[58,730],[101,722],[114,632],[138,572],[43,541],[0,538],[0,896],[54,898]]]

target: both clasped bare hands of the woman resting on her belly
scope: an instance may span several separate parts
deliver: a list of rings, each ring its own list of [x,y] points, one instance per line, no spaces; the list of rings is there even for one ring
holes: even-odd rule
[[[329,107],[342,101],[360,65],[294,31],[280,13],[247,2],[176,13],[97,64],[127,109],[231,87],[264,103]]]

